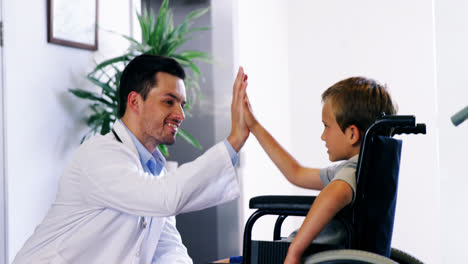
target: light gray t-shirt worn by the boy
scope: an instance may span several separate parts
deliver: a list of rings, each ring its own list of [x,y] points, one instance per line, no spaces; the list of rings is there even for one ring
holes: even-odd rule
[[[359,155],[355,155],[349,160],[343,161],[339,164],[320,169],[320,179],[323,186],[327,186],[331,181],[342,180],[345,181],[353,189],[353,202],[356,196],[356,167]]]

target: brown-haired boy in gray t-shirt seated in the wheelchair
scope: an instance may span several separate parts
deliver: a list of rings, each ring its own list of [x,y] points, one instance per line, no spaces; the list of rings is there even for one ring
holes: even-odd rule
[[[311,206],[304,223],[297,232],[285,264],[300,263],[304,250],[327,223],[356,194],[356,165],[362,138],[367,128],[382,113],[396,114],[396,107],[386,87],[372,79],[352,77],[342,80],[322,94],[322,122],[330,161],[345,160],[325,169],[300,165],[262,127],[252,114],[245,98],[244,119],[250,132],[283,175],[294,185],[322,190]]]

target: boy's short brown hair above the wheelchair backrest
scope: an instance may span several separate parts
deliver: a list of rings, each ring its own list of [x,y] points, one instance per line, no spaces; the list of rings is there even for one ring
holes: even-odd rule
[[[322,94],[322,102],[331,100],[336,122],[344,132],[355,125],[361,138],[374,121],[385,115],[394,115],[397,106],[387,86],[364,77],[351,77],[332,85]]]

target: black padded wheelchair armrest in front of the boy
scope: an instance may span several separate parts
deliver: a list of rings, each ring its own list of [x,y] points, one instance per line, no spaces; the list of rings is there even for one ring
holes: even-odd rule
[[[250,199],[250,209],[309,211],[315,196],[263,195]]]

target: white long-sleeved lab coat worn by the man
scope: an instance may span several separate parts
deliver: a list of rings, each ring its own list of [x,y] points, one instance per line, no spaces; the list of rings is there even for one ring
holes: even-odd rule
[[[155,177],[143,171],[124,126],[116,122],[114,130],[123,143],[109,133],[80,146],[55,202],[14,264],[191,263],[175,215],[239,196],[223,142]]]

